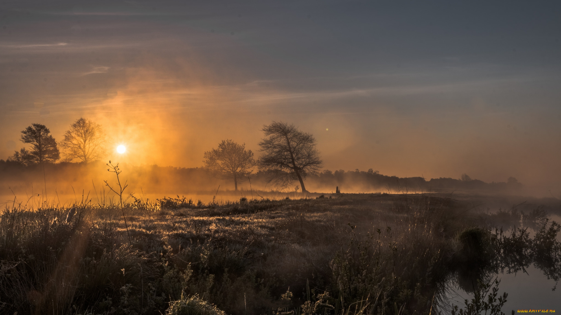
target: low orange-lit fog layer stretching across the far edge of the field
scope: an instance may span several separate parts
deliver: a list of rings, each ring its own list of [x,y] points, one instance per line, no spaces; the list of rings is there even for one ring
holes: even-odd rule
[[[224,200],[236,200],[240,197],[255,197],[259,193],[280,192],[292,197],[305,197],[301,193],[298,182],[287,187],[275,187],[267,183],[263,172],[251,174],[249,179],[242,178],[238,182],[239,191],[234,191],[231,179],[220,179],[202,168],[174,168],[152,166],[119,165],[122,170],[119,179],[127,183],[123,196],[131,193],[136,198],[176,197],[203,199],[217,194]],[[35,194],[44,198],[45,185],[49,202],[72,204],[75,202],[103,203],[116,200],[116,194],[105,185],[105,180],[117,189],[117,178],[108,172],[108,166],[101,162],[90,164],[59,163],[46,164],[45,173],[42,165],[22,166],[15,163],[0,161],[0,184],[2,185],[2,203],[12,202],[14,197],[26,202]],[[306,187],[314,193],[425,193],[425,192],[477,192],[500,194],[527,193],[525,187],[511,178],[507,182],[485,183],[464,175],[463,179],[438,178],[424,179],[421,177],[399,178],[381,175],[373,170],[331,172],[324,170],[316,175],[309,175]],[[82,196],[83,194],[83,196]],[[39,195],[39,196],[37,196]],[[273,196],[274,197],[274,196]],[[278,197],[278,196],[277,196]],[[40,199],[39,198],[39,199]],[[118,198],[117,198],[118,199]],[[130,198],[129,201],[133,201]]]

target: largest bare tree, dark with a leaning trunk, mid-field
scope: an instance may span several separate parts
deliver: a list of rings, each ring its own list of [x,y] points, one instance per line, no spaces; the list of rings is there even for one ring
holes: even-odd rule
[[[298,179],[302,192],[307,192],[304,178],[318,172],[323,163],[315,148],[315,138],[293,124],[283,122],[272,122],[263,126],[261,131],[265,138],[259,146],[265,154],[257,160],[259,169],[268,172],[269,181],[289,183]]]

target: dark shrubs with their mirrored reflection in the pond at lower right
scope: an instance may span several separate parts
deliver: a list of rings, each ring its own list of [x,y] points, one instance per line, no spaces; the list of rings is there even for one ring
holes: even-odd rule
[[[545,276],[544,280],[547,280],[544,282],[549,287],[544,289],[557,289],[561,278],[561,242],[558,239],[560,224],[550,221],[541,208],[527,214],[514,208],[511,211],[481,215],[480,219],[480,226],[488,228],[467,229],[458,236],[459,250],[452,257],[454,272],[449,286],[465,291],[469,297],[465,294],[459,295],[468,298],[468,302],[472,303],[473,298],[481,295],[482,291],[493,293],[495,279],[504,275],[529,275],[530,268],[539,271],[532,273],[534,277]],[[501,227],[490,228],[491,226]],[[503,226],[510,227],[504,229]],[[514,289],[501,285],[499,291],[508,293]],[[454,293],[450,290],[445,291],[444,299],[450,299],[452,295]],[[500,296],[499,294],[496,298]],[[465,307],[465,303],[458,303],[457,300],[452,303],[460,304],[460,308]],[[551,303],[558,302],[552,300]],[[499,304],[497,299],[495,304]]]

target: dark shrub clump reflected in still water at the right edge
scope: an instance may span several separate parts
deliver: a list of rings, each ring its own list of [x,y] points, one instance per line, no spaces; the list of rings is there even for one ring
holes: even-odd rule
[[[543,209],[538,208],[529,214],[513,209],[509,212],[499,211],[494,219],[503,221],[507,217],[522,219],[525,228],[513,228],[507,231],[495,228],[494,233],[488,229],[469,228],[458,235],[459,251],[452,258],[453,269],[457,271],[457,284],[468,293],[473,294],[471,302],[465,300],[465,309],[454,306],[452,314],[479,314],[490,311],[500,313],[507,295],[496,298],[499,282],[495,279],[493,292],[489,289],[493,277],[504,273],[516,274],[526,272],[530,265],[541,270],[548,279],[554,280],[555,286],[561,279],[561,243],[557,235],[561,225],[549,224]],[[516,221],[516,219],[514,219]],[[535,226],[536,234],[530,237],[528,229]]]

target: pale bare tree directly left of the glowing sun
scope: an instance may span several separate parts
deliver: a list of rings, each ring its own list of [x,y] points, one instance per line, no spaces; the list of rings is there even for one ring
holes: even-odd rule
[[[60,143],[65,149],[65,160],[79,160],[84,163],[103,158],[107,138],[100,124],[80,118],[65,132]]]

